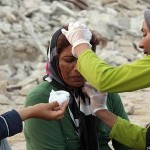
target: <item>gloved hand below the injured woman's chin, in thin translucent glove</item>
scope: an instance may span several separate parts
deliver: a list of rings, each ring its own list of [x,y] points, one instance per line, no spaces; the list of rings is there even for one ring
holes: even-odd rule
[[[89,83],[85,83],[82,90],[90,97],[90,106],[93,114],[95,114],[98,110],[107,109],[107,93],[98,92]]]

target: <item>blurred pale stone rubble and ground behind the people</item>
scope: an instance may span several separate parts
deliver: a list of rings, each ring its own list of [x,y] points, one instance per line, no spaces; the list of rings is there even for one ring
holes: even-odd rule
[[[51,35],[80,21],[108,39],[97,54],[117,66],[142,58],[144,10],[148,0],[0,0],[0,113],[23,107],[27,93],[45,74]],[[145,126],[150,117],[150,89],[120,93],[131,122]],[[25,150],[23,133],[8,138]]]

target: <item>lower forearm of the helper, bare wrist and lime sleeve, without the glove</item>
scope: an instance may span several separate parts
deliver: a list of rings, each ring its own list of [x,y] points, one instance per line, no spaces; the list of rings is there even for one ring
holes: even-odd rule
[[[112,128],[110,138],[137,150],[144,150],[146,145],[146,128],[131,124],[107,110],[96,113],[108,127]]]

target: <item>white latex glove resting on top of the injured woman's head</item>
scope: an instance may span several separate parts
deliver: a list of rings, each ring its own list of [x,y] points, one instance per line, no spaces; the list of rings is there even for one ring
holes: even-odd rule
[[[87,43],[89,48],[92,47],[90,44],[92,33],[85,24],[81,24],[79,22],[69,23],[68,31],[61,29],[61,32],[66,36],[67,40],[72,45],[72,54],[74,57],[77,57],[74,48],[79,44]]]

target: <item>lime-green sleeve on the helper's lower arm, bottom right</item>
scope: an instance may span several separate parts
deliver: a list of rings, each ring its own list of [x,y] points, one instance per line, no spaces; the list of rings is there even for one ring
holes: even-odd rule
[[[136,150],[145,150],[146,131],[146,128],[131,124],[118,117],[111,130],[110,138]]]

